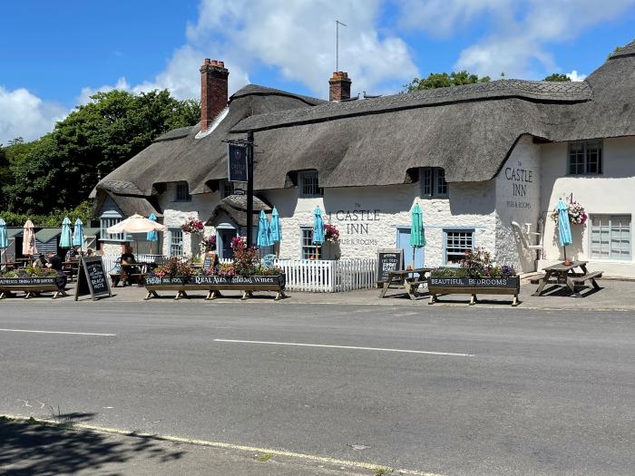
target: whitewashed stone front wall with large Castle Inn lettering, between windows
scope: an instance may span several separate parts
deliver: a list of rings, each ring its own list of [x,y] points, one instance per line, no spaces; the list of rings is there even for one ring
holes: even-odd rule
[[[396,246],[396,228],[410,227],[410,209],[424,213],[425,266],[440,266],[444,228],[474,228],[477,246],[493,250],[493,183],[451,184],[449,199],[419,199],[419,185],[325,189],[324,198],[300,198],[298,189],[266,193],[276,205],[282,226],[280,257],[300,257],[300,228],[313,226],[313,209],[326,211],[326,222],[339,229],[342,258],[376,257],[377,248]]]

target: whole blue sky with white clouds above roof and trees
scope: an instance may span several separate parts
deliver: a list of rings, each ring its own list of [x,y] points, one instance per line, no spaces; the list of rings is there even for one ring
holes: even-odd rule
[[[0,142],[35,139],[113,87],[197,98],[204,57],[225,61],[232,92],[259,83],[326,97],[336,18],[353,93],[458,69],[580,79],[635,38],[635,0],[6,2]]]

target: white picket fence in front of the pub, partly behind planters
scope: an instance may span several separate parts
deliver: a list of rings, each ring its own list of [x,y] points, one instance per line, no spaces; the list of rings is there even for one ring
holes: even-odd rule
[[[138,255],[140,262],[151,262],[161,255]],[[117,257],[103,257],[106,272],[112,270]],[[220,259],[221,264],[231,264],[231,259]],[[289,291],[309,293],[340,293],[376,286],[375,258],[316,260],[275,259],[274,265],[287,275]]]

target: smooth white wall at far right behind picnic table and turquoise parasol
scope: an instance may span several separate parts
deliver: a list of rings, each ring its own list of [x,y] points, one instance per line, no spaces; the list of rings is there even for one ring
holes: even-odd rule
[[[546,216],[562,195],[578,200],[587,213],[635,215],[635,137],[603,141],[604,173],[601,176],[568,176],[567,143],[541,146],[541,211]],[[632,224],[631,224],[632,235]],[[557,242],[557,229],[552,219],[545,219],[544,260],[546,266],[562,260],[562,248]],[[573,244],[567,247],[567,257],[590,261],[589,268],[600,269],[610,276],[635,277],[632,261],[591,259],[590,228],[572,225]]]

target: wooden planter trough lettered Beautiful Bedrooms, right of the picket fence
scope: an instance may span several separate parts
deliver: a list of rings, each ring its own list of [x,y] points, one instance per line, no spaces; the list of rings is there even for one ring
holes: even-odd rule
[[[441,294],[472,295],[470,305],[477,302],[476,295],[508,295],[513,296],[512,306],[518,306],[518,294],[521,292],[521,277],[428,277],[430,302],[438,302]]]

